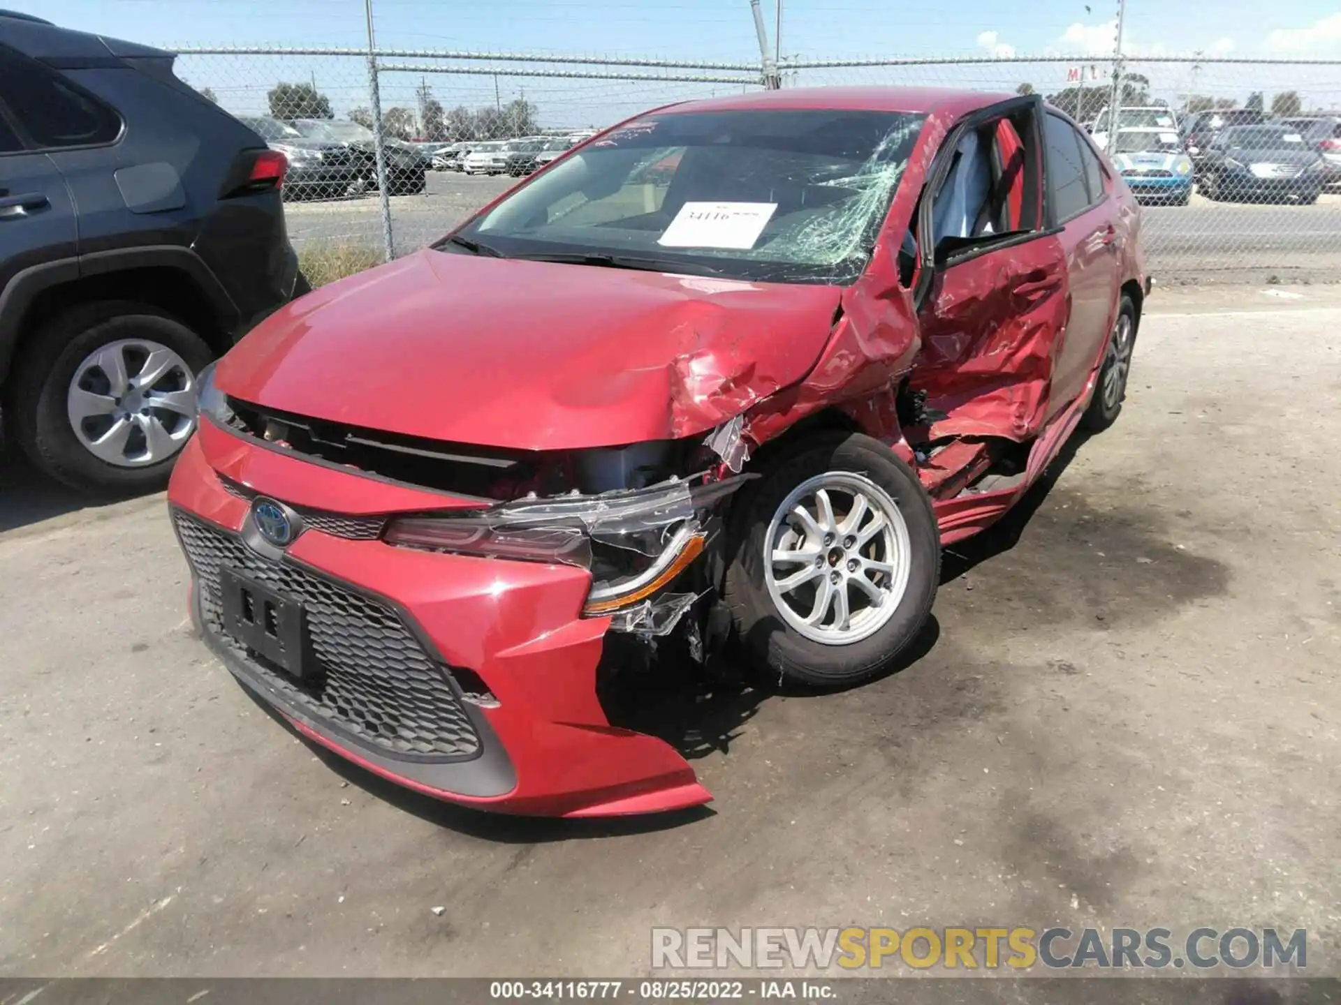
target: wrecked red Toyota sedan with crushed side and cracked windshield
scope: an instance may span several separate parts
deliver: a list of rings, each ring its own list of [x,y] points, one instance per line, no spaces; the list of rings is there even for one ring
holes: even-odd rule
[[[420,792],[704,803],[603,682],[666,636],[806,685],[886,669],[941,545],[1117,417],[1139,230],[1035,96],[640,115],[202,375],[169,493],[193,615],[303,734]]]

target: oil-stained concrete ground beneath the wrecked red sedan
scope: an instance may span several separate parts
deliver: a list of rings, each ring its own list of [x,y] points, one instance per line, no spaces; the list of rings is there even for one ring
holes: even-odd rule
[[[319,756],[188,634],[161,496],[11,465],[0,974],[637,974],[654,925],[1054,922],[1306,927],[1341,973],[1341,295],[1226,296],[1152,299],[1117,425],[952,549],[905,670],[672,702],[716,795],[672,817],[481,816]]]

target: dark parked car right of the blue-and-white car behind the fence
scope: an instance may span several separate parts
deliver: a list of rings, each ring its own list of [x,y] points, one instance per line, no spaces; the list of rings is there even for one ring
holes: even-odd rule
[[[1289,126],[1232,126],[1207,147],[1198,168],[1202,194],[1219,201],[1318,201],[1328,166]]]

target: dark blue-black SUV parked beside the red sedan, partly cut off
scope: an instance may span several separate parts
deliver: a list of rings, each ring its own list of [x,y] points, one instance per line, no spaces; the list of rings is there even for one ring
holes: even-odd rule
[[[82,489],[162,485],[196,374],[306,287],[283,154],[173,60],[0,12],[0,402]]]

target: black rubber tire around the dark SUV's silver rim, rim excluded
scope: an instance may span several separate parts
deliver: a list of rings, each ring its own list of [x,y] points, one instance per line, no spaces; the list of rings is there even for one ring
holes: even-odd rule
[[[196,375],[215,358],[205,340],[170,314],[149,304],[109,300],[74,307],[32,332],[12,374],[16,441],[43,472],[84,492],[119,496],[161,489],[186,444],[188,437],[180,436],[162,460],[121,466],[101,460],[80,442],[68,411],[71,385],[90,355],[123,340],[170,350],[185,363],[192,389]],[[177,431],[184,429],[176,413],[170,419]],[[189,421],[193,423],[194,415]]]

